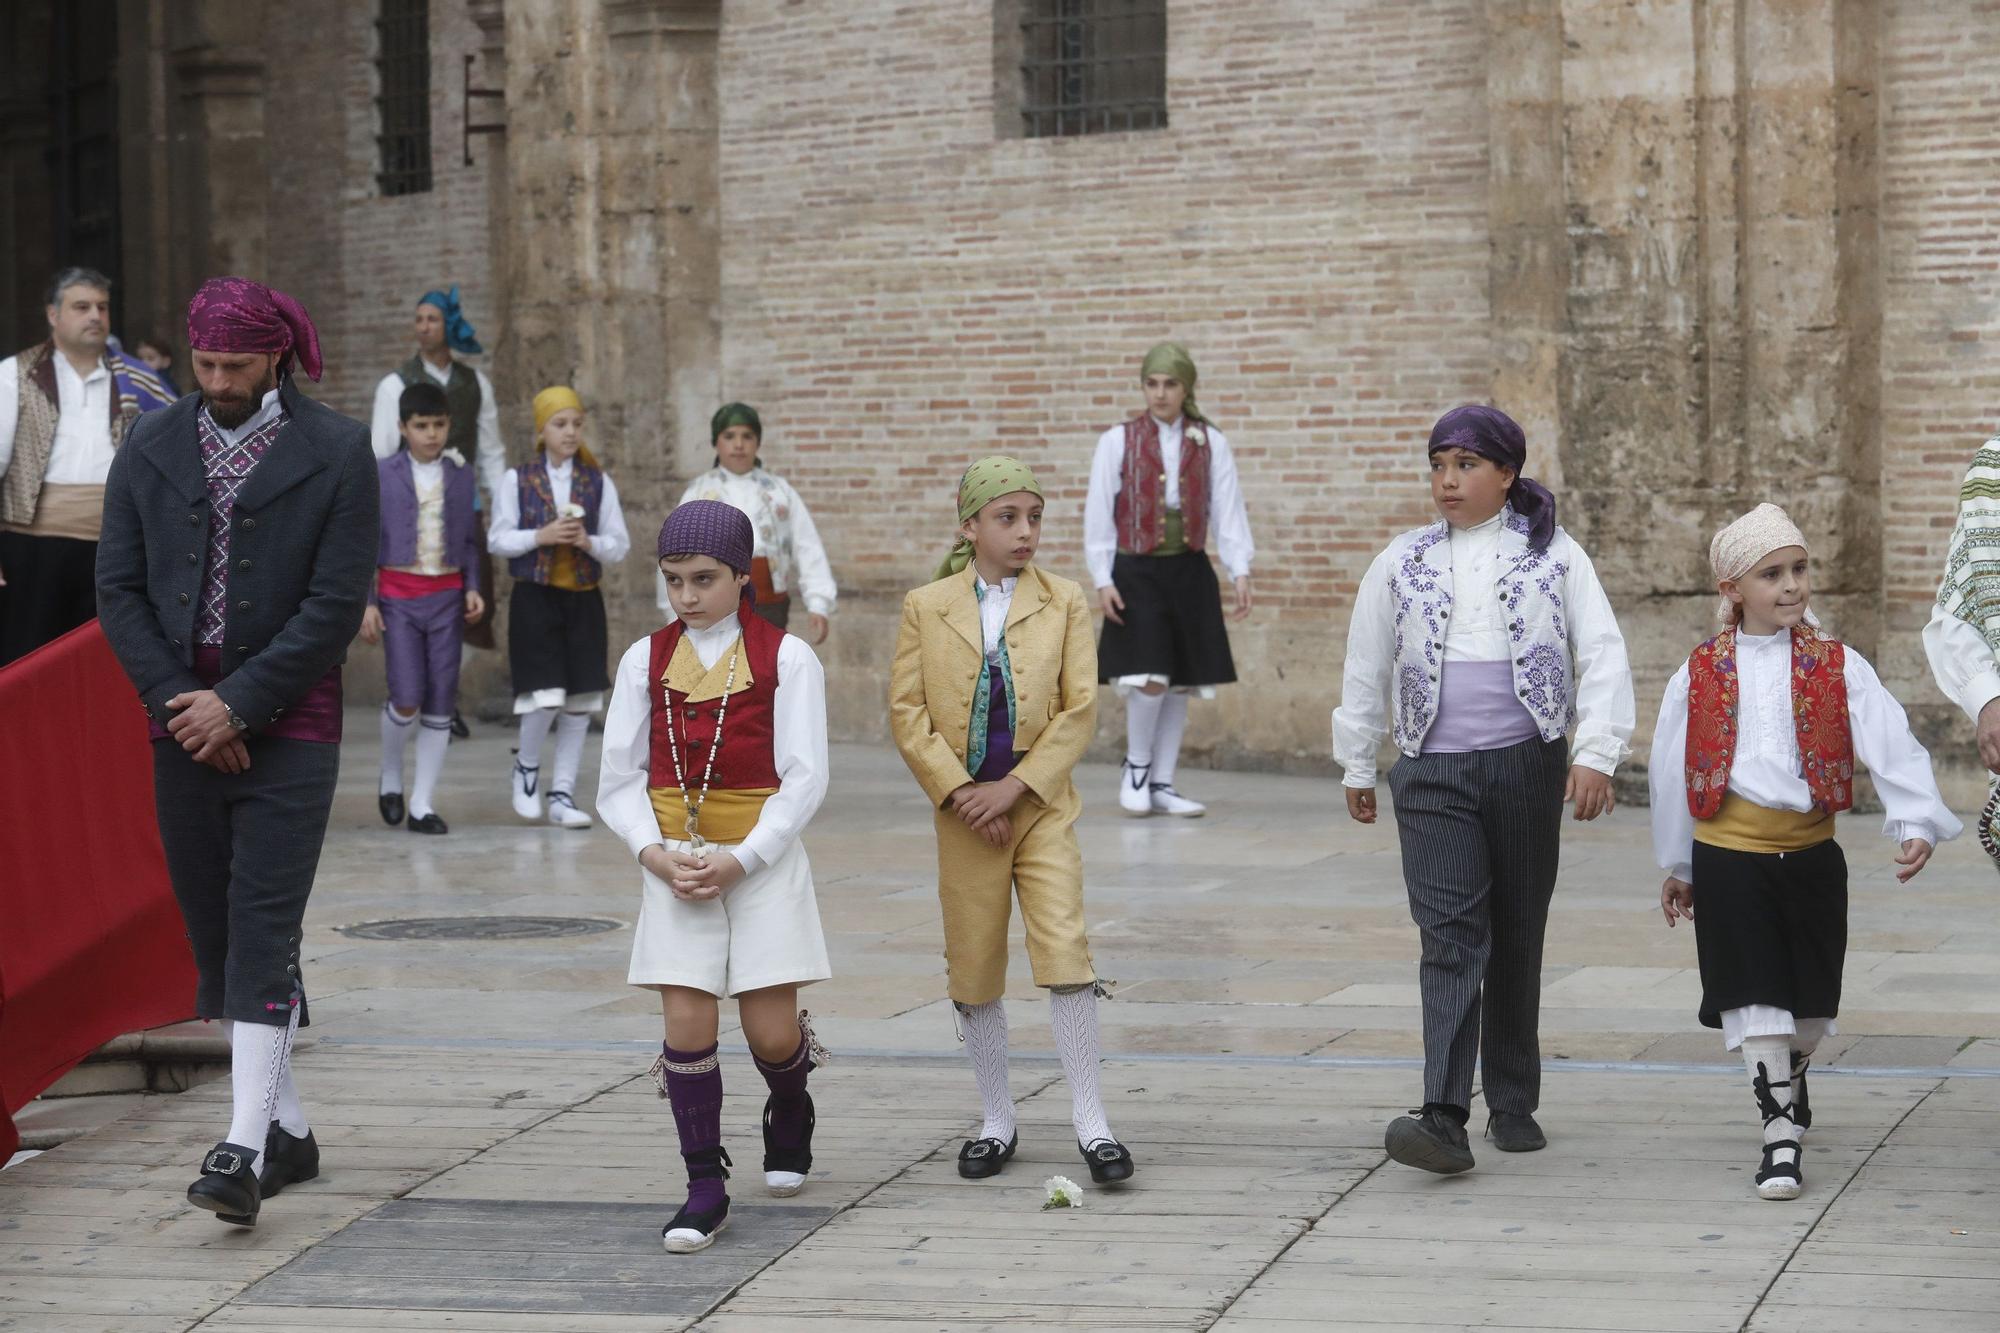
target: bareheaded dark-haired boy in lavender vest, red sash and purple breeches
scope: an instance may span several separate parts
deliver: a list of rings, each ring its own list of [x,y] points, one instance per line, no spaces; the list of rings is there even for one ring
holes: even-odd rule
[[[458,713],[464,630],[486,610],[480,596],[478,514],[472,468],[446,448],[452,404],[436,384],[410,384],[396,402],[404,446],[376,464],[382,540],[368,590],[362,640],[380,640],[388,673],[382,701],[382,779],[376,809],[400,825],[402,753],[416,737],[410,833],[448,833],[432,807]]]

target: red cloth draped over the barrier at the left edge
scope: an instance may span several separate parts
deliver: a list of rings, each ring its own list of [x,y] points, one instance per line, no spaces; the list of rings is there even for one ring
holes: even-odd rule
[[[0,1161],[12,1115],[120,1033],[192,1017],[146,713],[98,622],[0,669]]]

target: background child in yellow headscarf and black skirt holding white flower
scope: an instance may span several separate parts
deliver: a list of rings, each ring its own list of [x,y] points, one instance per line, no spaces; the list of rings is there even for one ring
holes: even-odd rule
[[[538,458],[508,468],[494,494],[486,546],[508,562],[506,656],[514,677],[520,749],[510,793],[522,819],[542,817],[542,743],[556,729],[548,823],[588,829],[576,809],[576,769],[590,715],[604,707],[606,626],[598,580],[632,548],[618,486],[584,444],[584,402],[574,388],[534,396]]]

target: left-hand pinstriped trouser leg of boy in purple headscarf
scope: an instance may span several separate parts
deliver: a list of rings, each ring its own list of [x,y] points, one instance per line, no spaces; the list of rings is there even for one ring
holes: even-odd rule
[[[1424,1101],[1466,1109],[1492,947],[1482,761],[1478,753],[1404,757],[1388,775],[1410,919],[1424,939]]]

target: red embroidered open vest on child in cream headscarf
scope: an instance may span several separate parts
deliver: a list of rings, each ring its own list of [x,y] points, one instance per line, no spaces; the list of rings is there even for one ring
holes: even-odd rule
[[[1688,811],[1714,819],[1736,761],[1736,630],[1688,654]],[[1854,737],[1848,731],[1846,648],[1810,626],[1792,630],[1792,725],[1812,803],[1854,805]]]

